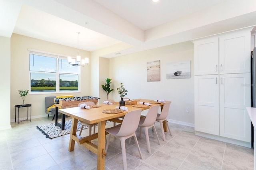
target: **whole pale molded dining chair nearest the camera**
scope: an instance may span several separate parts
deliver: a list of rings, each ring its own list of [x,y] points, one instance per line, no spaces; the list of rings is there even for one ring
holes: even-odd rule
[[[106,144],[105,152],[108,151],[110,136],[111,135],[116,136],[116,138],[118,138],[121,141],[122,157],[123,157],[125,170],[127,170],[126,151],[125,151],[125,140],[127,138],[130,138],[132,136],[134,137],[134,140],[138,147],[140,158],[142,159],[142,154],[140,152],[140,146],[139,146],[136,134],[135,134],[135,131],[139,125],[140,114],[141,114],[141,109],[138,109],[135,111],[130,111],[130,112],[126,113],[126,115],[124,116],[122,124],[106,129],[106,132],[109,133],[109,137],[108,137],[108,141]]]

